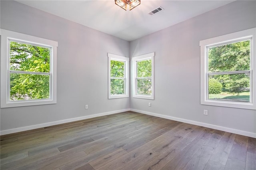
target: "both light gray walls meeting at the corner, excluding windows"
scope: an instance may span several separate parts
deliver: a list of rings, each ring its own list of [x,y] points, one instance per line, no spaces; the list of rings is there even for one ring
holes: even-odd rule
[[[256,27],[255,9],[256,1],[233,2],[129,43],[18,2],[1,0],[2,29],[58,41],[58,72],[57,104],[0,109],[0,128],[131,108],[255,134],[255,110],[200,105],[199,47],[200,40]],[[108,52],[131,57],[156,53],[155,100],[108,100]],[[208,109],[208,116],[203,109]]]

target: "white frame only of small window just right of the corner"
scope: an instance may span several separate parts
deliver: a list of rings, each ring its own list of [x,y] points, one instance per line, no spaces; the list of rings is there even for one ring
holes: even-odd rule
[[[136,57],[132,57],[132,65],[133,65],[133,95],[134,98],[140,98],[140,99],[150,99],[154,100],[154,56],[155,53],[148,53],[144,55],[139,55]],[[143,60],[149,60],[151,59],[151,77],[144,77],[144,78],[151,78],[151,95],[141,95],[137,94],[137,61],[143,61]]]

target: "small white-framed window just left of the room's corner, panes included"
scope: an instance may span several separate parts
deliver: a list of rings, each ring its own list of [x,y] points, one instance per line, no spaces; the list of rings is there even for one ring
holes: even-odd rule
[[[129,61],[108,53],[108,99],[129,97]]]

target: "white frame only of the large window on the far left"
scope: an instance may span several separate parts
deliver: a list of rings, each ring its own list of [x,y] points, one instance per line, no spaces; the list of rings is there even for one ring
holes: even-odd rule
[[[16,41],[21,43],[33,44],[42,47],[48,47],[51,50],[50,57],[50,98],[49,99],[31,99],[31,100],[10,100],[10,47],[9,42]],[[47,40],[1,29],[1,108],[21,107],[32,105],[46,105],[57,103],[56,99],[56,81],[57,81],[57,47],[58,42]],[[14,71],[15,72],[15,71]],[[40,74],[40,73],[39,73]]]

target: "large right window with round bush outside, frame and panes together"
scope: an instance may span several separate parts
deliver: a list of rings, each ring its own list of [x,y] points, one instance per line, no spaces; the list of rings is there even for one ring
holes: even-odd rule
[[[200,41],[201,104],[256,109],[255,36],[253,28]]]

